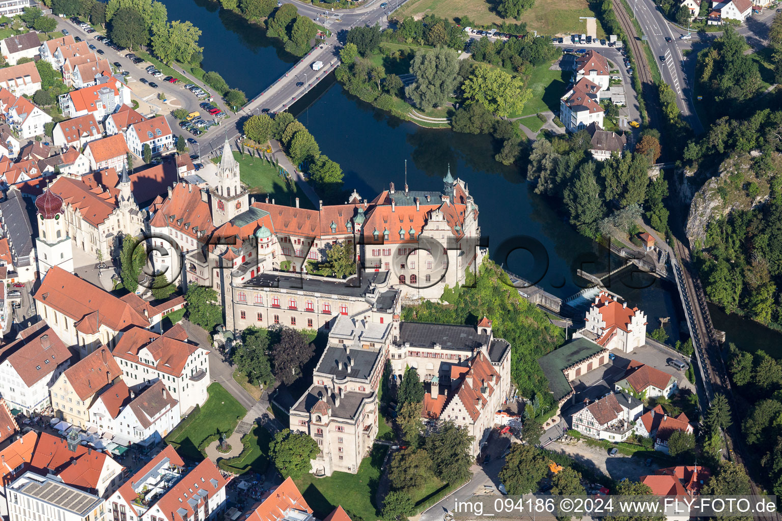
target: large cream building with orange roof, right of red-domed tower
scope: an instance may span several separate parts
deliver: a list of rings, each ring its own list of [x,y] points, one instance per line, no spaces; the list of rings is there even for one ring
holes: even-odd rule
[[[80,177],[66,175],[60,175],[48,187],[48,191],[63,199],[62,208],[58,209],[63,215],[63,234],[92,257],[97,258],[99,252],[105,259],[116,255],[122,237],[135,237],[144,230],[144,214],[133,198],[127,170],[123,172],[112,189],[93,187]]]

